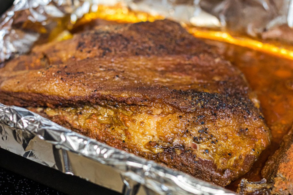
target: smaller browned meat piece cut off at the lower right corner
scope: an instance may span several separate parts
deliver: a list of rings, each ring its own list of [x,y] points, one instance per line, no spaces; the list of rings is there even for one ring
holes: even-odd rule
[[[280,147],[272,154],[262,170],[263,180],[242,179],[237,192],[243,195],[293,194],[293,127],[284,136]]]

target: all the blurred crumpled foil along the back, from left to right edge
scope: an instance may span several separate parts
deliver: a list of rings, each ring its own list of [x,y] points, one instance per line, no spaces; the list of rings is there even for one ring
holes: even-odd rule
[[[232,35],[293,42],[293,0],[16,0],[0,18],[0,62],[28,53],[100,4],[117,3]]]

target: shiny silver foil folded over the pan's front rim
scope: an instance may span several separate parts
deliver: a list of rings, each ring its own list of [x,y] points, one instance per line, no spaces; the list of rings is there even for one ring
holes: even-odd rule
[[[25,108],[1,103],[0,147],[127,195],[235,195],[72,132]]]

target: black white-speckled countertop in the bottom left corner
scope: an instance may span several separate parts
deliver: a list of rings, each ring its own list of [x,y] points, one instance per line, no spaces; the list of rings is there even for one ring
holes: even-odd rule
[[[64,193],[0,167],[0,194],[56,194]]]

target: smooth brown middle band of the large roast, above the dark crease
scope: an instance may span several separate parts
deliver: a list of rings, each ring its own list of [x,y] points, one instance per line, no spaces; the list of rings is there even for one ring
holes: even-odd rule
[[[194,109],[193,92],[209,92],[243,103],[248,113],[258,112],[255,96],[240,71],[208,53],[89,58],[12,74],[10,69],[7,66],[0,72],[0,98],[7,105],[80,106],[101,101],[151,105],[155,99],[163,99],[186,112]],[[232,102],[225,103],[230,106]]]

